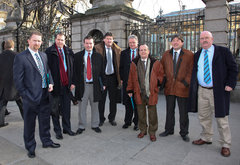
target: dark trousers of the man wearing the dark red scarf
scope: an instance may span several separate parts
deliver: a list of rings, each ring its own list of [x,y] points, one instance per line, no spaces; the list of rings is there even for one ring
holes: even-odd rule
[[[60,96],[51,97],[51,115],[54,132],[57,135],[62,134],[60,125],[60,114],[62,115],[62,128],[65,131],[71,131],[71,99],[68,87],[61,88]]]

